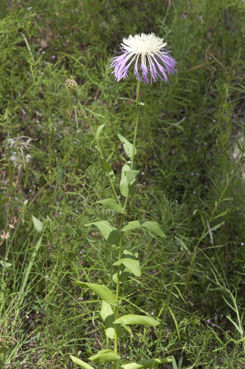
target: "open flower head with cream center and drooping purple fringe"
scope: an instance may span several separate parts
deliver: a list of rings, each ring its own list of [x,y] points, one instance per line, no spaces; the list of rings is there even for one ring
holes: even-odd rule
[[[171,51],[164,49],[167,43],[154,33],[130,34],[128,38],[123,38],[121,45],[121,55],[112,58],[110,66],[114,69],[112,74],[115,74],[117,81],[128,77],[127,71],[131,64],[134,64],[136,78],[149,84],[156,82],[158,77],[168,82],[167,74],[176,71],[176,61],[169,55]]]

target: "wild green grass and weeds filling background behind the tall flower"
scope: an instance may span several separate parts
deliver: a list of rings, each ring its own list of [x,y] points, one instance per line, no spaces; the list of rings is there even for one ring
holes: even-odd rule
[[[244,17],[242,0],[0,2],[1,234],[15,225],[0,246],[0,368],[74,368],[69,354],[110,348],[99,301],[71,278],[111,283],[115,250],[84,224],[101,212],[117,218],[92,205],[110,197],[109,184],[64,82],[77,81],[94,127],[105,123],[102,150],[119,176],[117,133],[132,141],[135,79],[114,81],[109,59],[123,37],[152,31],[178,72],[142,86],[141,174],[128,212],[156,219],[167,237],[128,239],[143,268],[122,310],[162,317],[176,273],[159,344],[174,360],[164,367],[245,368],[244,146],[235,140],[244,145]],[[31,139],[26,165],[10,160],[18,136]],[[132,329],[122,358],[149,358],[156,344],[154,330]]]

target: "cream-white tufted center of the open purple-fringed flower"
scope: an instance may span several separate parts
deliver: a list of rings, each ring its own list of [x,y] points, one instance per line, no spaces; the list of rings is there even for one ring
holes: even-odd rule
[[[136,34],[135,36],[129,35],[128,38],[123,38],[123,48],[129,53],[133,54],[155,54],[167,45],[167,42],[163,42],[163,39],[157,37],[154,33],[150,34]]]

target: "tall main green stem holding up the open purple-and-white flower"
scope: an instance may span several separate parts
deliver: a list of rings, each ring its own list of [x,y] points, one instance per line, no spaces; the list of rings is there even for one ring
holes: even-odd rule
[[[131,157],[130,170],[133,169],[133,160],[134,160],[136,137],[137,137],[138,123],[139,123],[140,87],[141,87],[141,84],[140,84],[140,81],[138,81],[138,83],[137,83],[137,97],[136,97],[136,118],[135,118],[133,151],[132,151],[132,157]],[[126,198],[125,198],[125,202],[124,202],[124,206],[123,206],[124,211],[126,209],[127,201],[128,201],[128,197],[129,197],[129,188],[130,188],[130,184],[128,184],[128,187],[127,187]],[[124,232],[122,232],[123,221],[124,221],[124,214],[121,215],[121,233],[120,233],[118,260],[121,259],[121,255],[122,255],[123,234],[124,234]],[[117,306],[115,307],[115,320],[118,318],[119,287],[120,287],[120,266],[118,266],[118,269],[117,269],[117,287],[116,287],[116,303],[117,303]],[[115,354],[117,354],[118,353],[118,324],[115,324],[114,345],[115,345],[114,351],[115,351]],[[114,362],[114,369],[117,369],[117,367],[118,367],[118,362],[115,361]]]

